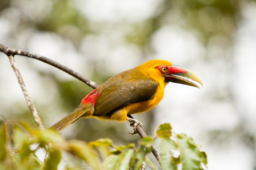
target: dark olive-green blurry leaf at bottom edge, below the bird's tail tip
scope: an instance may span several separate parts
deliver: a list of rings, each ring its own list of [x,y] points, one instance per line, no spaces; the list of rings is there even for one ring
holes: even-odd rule
[[[43,166],[43,170],[57,170],[58,164],[61,161],[61,150],[52,148],[49,153],[49,158],[45,162]]]

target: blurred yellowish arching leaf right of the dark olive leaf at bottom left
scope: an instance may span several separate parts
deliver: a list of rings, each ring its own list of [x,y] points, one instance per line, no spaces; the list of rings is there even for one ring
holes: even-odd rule
[[[67,151],[84,160],[93,170],[99,170],[97,155],[86,142],[70,140],[67,142]]]

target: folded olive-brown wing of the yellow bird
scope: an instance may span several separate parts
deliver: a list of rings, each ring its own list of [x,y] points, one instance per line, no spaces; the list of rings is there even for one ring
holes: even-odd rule
[[[157,87],[158,83],[149,78],[109,84],[97,97],[93,115],[103,116],[129,104],[152,99]]]

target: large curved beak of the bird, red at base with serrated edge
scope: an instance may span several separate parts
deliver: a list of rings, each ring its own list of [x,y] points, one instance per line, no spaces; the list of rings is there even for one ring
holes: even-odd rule
[[[202,81],[195,73],[177,65],[169,66],[168,72],[164,75],[164,78],[166,82],[186,84],[197,88],[203,87]]]

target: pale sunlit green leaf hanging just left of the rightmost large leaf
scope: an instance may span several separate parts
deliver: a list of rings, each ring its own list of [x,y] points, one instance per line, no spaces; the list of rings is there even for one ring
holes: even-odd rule
[[[159,163],[163,170],[176,170],[177,167],[172,163],[173,154],[171,150],[177,150],[177,144],[171,139],[162,139],[159,144],[160,159]]]

